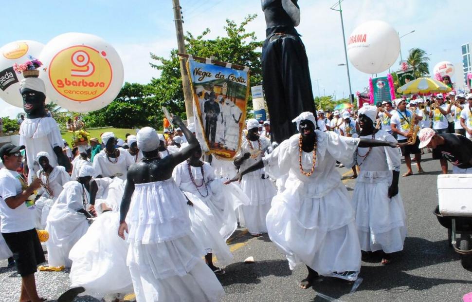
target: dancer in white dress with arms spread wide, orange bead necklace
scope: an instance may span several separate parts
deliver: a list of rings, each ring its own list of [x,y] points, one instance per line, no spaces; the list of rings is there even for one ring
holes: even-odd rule
[[[336,160],[354,163],[357,146],[393,146],[390,142],[348,138],[316,129],[313,113],[293,120],[300,134],[283,141],[231,181],[264,167],[274,178],[289,174],[285,190],[272,200],[267,227],[273,243],[286,255],[290,268],[307,265],[300,286],[308,288],[318,274],[355,280],[361,268],[361,248],[354,211]]]

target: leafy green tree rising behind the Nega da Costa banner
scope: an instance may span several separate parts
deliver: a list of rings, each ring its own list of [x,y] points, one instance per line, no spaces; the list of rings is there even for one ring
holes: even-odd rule
[[[247,32],[246,26],[253,21],[257,15],[249,15],[241,24],[235,21],[226,20],[224,29],[226,36],[215,39],[206,39],[210,33],[209,29],[197,37],[187,32],[185,35],[185,47],[187,53],[197,57],[212,57],[223,62],[231,62],[248,66],[251,69],[250,85],[260,85],[262,83],[262,67],[260,61],[260,48],[263,41],[258,41],[254,32]],[[179,57],[177,50],[170,52],[170,58],[158,57],[151,53],[151,58],[157,63],[150,65],[161,72],[159,78],[151,81],[154,88],[156,107],[168,107],[170,112],[185,117],[185,104],[182,91],[182,79],[180,74]],[[248,113],[252,109],[251,99],[248,100]],[[158,113],[150,116],[151,119],[162,121],[162,116]],[[162,113],[161,113],[162,114]]]

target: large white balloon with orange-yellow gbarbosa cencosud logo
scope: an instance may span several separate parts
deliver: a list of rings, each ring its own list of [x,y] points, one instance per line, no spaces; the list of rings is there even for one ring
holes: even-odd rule
[[[69,111],[86,113],[107,106],[123,85],[123,63],[100,37],[67,33],[44,46],[40,74],[48,97]]]

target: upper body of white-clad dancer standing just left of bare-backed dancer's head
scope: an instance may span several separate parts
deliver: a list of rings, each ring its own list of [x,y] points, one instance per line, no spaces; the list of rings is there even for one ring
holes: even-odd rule
[[[93,169],[96,173],[93,176],[116,176],[126,180],[126,172],[134,164],[134,158],[125,149],[115,148],[116,138],[113,132],[105,132],[101,138],[105,149],[93,157]]]

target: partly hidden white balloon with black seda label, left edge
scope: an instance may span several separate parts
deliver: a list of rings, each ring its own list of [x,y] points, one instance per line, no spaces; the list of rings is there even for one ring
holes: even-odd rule
[[[22,74],[13,70],[13,64],[23,64],[30,56],[39,58],[44,44],[32,40],[18,40],[0,48],[0,98],[5,102],[23,108],[23,98],[19,93]]]

